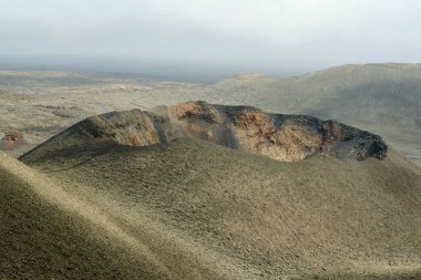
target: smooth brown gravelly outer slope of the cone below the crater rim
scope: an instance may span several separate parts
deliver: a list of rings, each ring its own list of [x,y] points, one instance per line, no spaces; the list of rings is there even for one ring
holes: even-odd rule
[[[421,170],[393,149],[382,160],[314,156],[283,163],[195,137],[122,143],[121,136],[136,134],[136,122],[153,117],[140,113],[76,124],[21,160],[101,209],[132,245],[147,248],[163,274],[421,276]],[[151,132],[142,127],[138,135]]]

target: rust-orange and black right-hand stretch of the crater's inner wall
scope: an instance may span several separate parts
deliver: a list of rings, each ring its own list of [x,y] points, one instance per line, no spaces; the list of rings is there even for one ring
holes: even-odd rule
[[[281,162],[311,156],[383,159],[380,136],[304,115],[268,114],[255,107],[188,102],[167,108],[183,137],[197,137]]]

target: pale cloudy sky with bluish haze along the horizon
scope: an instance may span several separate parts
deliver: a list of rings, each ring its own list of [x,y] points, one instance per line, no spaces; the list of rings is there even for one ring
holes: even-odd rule
[[[9,64],[281,73],[421,61],[419,0],[0,0],[0,56]]]

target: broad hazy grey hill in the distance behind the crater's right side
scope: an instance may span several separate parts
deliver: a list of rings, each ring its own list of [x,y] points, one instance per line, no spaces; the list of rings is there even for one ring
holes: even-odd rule
[[[421,64],[333,68],[285,80],[279,92],[294,111],[352,124],[421,128]]]

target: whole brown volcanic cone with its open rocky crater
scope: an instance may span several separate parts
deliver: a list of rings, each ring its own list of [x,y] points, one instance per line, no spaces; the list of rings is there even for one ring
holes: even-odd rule
[[[146,263],[133,272],[135,278],[421,276],[421,172],[393,149],[387,153],[379,136],[307,116],[203,102],[155,112],[160,114],[115,112],[75,124],[20,158],[37,172],[8,160],[35,174],[37,184],[48,184],[44,196],[58,188],[72,197],[78,206],[72,215],[90,227],[100,224],[93,231],[100,237],[115,238],[112,242],[120,248],[143,248],[135,256],[121,249],[115,257]],[[297,125],[290,137],[288,127]],[[249,134],[244,126],[251,127]],[[287,141],[263,142],[268,132]],[[309,141],[314,138],[327,148],[321,144],[308,154],[307,144],[319,143]],[[271,145],[284,154],[267,153]],[[301,148],[304,159],[297,156]],[[59,208],[69,207],[68,199],[52,200]],[[6,236],[6,242],[14,238]],[[101,246],[101,239],[93,241]],[[8,250],[12,255],[32,248]],[[60,247],[52,252],[65,259]],[[107,263],[84,253],[99,268]],[[28,255],[14,263],[27,276],[61,276],[31,270],[27,263],[33,258]],[[145,266],[151,271],[143,271]],[[13,277],[13,271],[7,267],[3,274]],[[125,267],[106,271],[109,278],[127,272]]]

